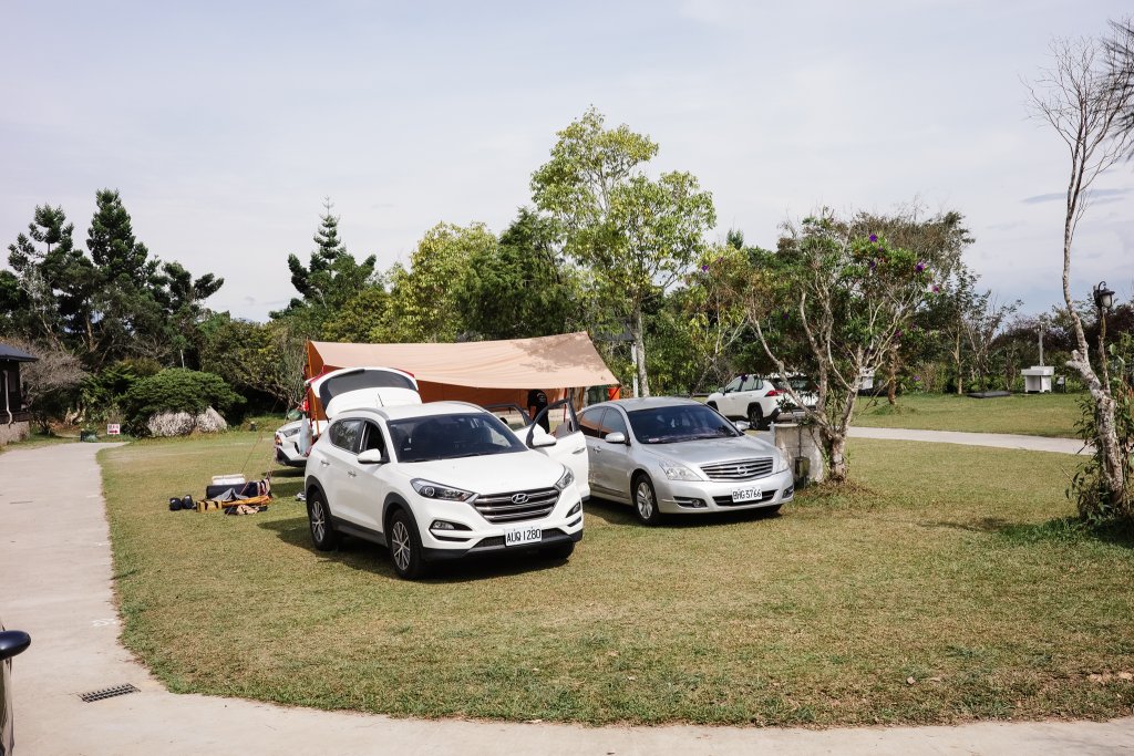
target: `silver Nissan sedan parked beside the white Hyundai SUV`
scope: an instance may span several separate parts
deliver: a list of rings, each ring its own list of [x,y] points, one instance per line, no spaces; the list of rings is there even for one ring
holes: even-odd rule
[[[578,422],[591,492],[633,506],[650,525],[662,513],[776,511],[795,492],[773,445],[692,399],[604,401],[579,413]]]

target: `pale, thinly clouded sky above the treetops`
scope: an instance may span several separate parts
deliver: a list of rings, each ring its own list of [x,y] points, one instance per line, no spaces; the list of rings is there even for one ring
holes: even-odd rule
[[[43,2],[0,7],[0,240],[36,205],[86,238],[116,188],[162,260],[265,320],[330,197],[379,267],[441,221],[502,231],[590,105],[699,178],[710,239],[773,247],[820,206],[955,210],[998,299],[1061,301],[1067,148],[1023,79],[1110,0]],[[1072,288],[1134,289],[1134,162],[1100,177]],[[0,255],[6,266],[7,255]]]

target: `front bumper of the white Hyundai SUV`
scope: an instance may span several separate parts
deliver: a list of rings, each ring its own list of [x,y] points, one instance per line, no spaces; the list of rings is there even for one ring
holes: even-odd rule
[[[422,500],[426,501],[426,500]],[[583,501],[575,486],[564,491],[551,513],[533,519],[513,523],[489,523],[481,515],[463,503],[429,500],[421,507],[415,504],[414,516],[422,540],[422,551],[428,561],[460,559],[474,554],[492,552],[523,552],[583,540]],[[574,511],[576,506],[577,511]],[[445,520],[467,530],[431,529],[434,520]],[[505,533],[516,528],[539,528],[540,541],[516,546],[505,545]]]

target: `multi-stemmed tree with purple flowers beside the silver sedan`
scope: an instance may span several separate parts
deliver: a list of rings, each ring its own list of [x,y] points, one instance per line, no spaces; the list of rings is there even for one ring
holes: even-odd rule
[[[826,210],[787,226],[777,252],[758,260],[735,292],[776,371],[806,371],[815,381],[813,408],[785,389],[816,427],[837,483],[849,472],[846,439],[861,376],[878,369],[932,292],[926,261],[855,228]]]

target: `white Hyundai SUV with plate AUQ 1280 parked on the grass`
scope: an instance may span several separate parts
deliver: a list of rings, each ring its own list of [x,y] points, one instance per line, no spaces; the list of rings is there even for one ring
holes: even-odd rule
[[[556,449],[547,434],[528,443],[464,402],[340,411],[307,458],[315,547],[333,549],[339,534],[373,541],[403,578],[430,561],[492,551],[566,559],[583,538],[583,499],[575,459],[556,457],[576,458],[574,444]]]

